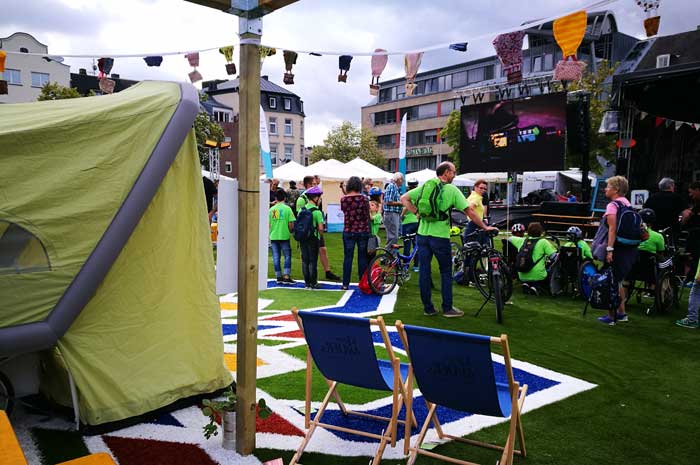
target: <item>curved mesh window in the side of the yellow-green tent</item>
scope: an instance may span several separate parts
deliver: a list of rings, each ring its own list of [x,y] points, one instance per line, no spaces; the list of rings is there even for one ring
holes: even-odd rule
[[[16,223],[0,220],[0,275],[51,269],[44,244]]]

